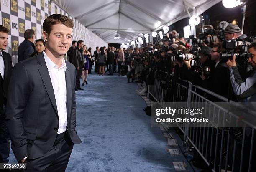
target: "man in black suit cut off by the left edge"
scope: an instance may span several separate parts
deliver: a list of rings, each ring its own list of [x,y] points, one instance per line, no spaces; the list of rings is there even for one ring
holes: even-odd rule
[[[8,44],[8,29],[0,25],[0,163],[8,163],[10,154],[10,134],[5,121],[7,91],[13,70],[10,54],[3,50]]]

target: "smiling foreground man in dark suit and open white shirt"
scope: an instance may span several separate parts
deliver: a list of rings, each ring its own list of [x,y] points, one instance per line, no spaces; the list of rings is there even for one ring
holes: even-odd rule
[[[76,69],[65,61],[74,23],[49,15],[43,24],[43,53],[17,63],[8,91],[6,119],[12,149],[26,172],[64,172],[76,134]]]

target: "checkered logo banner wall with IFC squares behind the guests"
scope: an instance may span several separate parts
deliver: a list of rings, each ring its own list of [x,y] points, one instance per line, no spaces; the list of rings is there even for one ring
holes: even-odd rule
[[[67,14],[50,0],[0,0],[0,24],[9,32],[6,52],[13,56],[13,64],[18,61],[18,46],[24,40],[27,29],[35,30],[36,39],[42,38],[44,19],[51,14],[67,15],[74,21],[73,40],[84,40],[87,47],[108,46],[100,37]]]

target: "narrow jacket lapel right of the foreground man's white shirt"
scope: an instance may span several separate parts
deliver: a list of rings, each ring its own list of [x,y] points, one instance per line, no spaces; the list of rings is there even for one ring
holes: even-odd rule
[[[67,66],[67,63],[66,63],[66,66]],[[71,114],[71,101],[72,101],[72,89],[71,89],[71,79],[70,79],[70,72],[69,72],[69,67],[67,66],[67,70],[65,72],[65,78],[66,78],[66,87],[67,87],[67,103],[66,103],[66,106],[67,106],[67,120],[68,122],[70,121],[69,120],[69,117],[70,117],[70,114]]]

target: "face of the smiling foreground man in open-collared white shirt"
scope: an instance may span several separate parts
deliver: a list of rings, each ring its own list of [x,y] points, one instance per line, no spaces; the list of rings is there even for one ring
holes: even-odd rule
[[[52,26],[51,33],[47,35],[43,33],[44,40],[46,40],[46,48],[55,56],[61,57],[67,53],[69,45],[72,41],[72,28],[63,24],[56,24]]]

